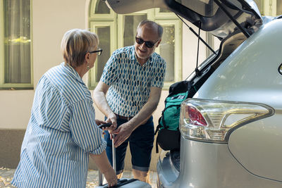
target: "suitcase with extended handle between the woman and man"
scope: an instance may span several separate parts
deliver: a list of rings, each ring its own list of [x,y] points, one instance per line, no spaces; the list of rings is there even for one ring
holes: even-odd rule
[[[114,138],[114,137],[113,137]],[[114,139],[112,139],[113,149],[113,168],[116,170],[116,148],[114,147]],[[108,184],[103,184],[103,175],[99,171],[99,186],[97,188],[106,188]],[[118,184],[115,187],[121,188],[152,188],[150,184],[142,182],[137,179],[121,178],[118,180]]]

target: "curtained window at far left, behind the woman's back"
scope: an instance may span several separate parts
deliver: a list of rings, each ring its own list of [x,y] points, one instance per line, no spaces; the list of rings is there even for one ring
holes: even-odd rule
[[[30,0],[0,3],[0,88],[32,88]]]

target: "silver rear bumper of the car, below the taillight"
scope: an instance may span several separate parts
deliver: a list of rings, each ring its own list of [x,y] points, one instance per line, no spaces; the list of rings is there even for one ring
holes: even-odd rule
[[[159,187],[185,188],[238,188],[281,187],[281,182],[271,181],[248,172],[233,157],[227,144],[197,142],[180,139],[180,173],[169,182],[167,161],[158,163]],[[183,168],[185,167],[185,168]]]

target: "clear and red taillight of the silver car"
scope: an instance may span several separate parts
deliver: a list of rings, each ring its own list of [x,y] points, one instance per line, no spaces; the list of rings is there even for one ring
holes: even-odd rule
[[[274,108],[265,104],[186,99],[181,104],[179,127],[185,139],[228,143],[235,128],[271,115]]]

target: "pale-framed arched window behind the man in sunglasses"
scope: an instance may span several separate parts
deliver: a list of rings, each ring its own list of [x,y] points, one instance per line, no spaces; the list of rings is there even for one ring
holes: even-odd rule
[[[104,1],[93,0],[90,4],[90,29],[99,36],[103,53],[98,56],[95,68],[90,70],[89,88],[94,89],[100,80],[106,61],[118,48],[135,44],[137,25],[141,20],[153,20],[164,27],[164,35],[156,52],[166,60],[164,89],[182,80],[182,23],[171,13],[160,8],[149,9],[127,15],[118,15]]]

